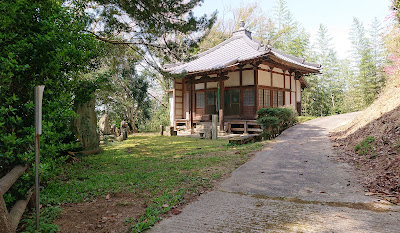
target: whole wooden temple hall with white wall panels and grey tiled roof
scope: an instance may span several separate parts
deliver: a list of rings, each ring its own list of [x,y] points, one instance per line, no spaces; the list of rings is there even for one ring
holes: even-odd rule
[[[257,110],[290,106],[301,114],[304,75],[319,64],[280,52],[251,37],[244,23],[229,39],[192,61],[166,65],[174,80],[170,92],[171,126],[193,129],[219,115],[220,132],[259,132]]]

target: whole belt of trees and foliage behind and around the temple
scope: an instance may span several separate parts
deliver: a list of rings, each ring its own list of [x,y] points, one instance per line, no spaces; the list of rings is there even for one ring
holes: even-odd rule
[[[192,9],[199,3],[2,1],[0,175],[33,161],[35,85],[46,85],[41,137],[41,178],[46,181],[68,159],[68,151],[80,147],[73,129],[77,106],[95,99],[98,116],[107,113],[117,126],[128,121],[135,131],[168,125],[173,77],[163,65],[187,61],[217,45],[241,20],[254,39],[322,64],[321,74],[306,77],[304,115],[362,110],[397,77],[397,3],[386,25],[354,18],[349,59],[338,58],[324,25],[311,43],[284,0],[276,1],[270,16],[252,3],[232,9],[231,19],[217,18],[217,12],[195,17]],[[31,186],[27,173],[5,195],[6,203]]]

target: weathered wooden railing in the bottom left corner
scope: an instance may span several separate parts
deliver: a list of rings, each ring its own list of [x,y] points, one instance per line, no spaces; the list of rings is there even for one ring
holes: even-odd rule
[[[27,168],[28,166],[18,165],[0,179],[0,230],[2,233],[11,233],[17,230],[22,214],[31,199],[33,188],[29,189],[25,200],[17,201],[8,212],[3,198],[3,195],[14,185],[15,181],[22,176]]]

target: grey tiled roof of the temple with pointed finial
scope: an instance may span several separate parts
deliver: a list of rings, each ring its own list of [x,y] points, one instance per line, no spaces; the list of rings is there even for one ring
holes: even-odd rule
[[[319,64],[306,62],[303,58],[294,57],[280,52],[270,46],[261,44],[251,38],[251,33],[240,28],[232,37],[217,46],[200,53],[187,63],[165,65],[164,69],[173,74],[200,73],[223,69],[247,60],[272,56],[285,61],[294,68],[305,69],[309,73],[319,72]]]

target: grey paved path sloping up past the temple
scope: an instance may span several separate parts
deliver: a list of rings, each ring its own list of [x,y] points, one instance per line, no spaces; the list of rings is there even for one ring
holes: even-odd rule
[[[151,232],[399,232],[399,208],[365,196],[334,158],[328,131],[354,116],[292,127]]]

